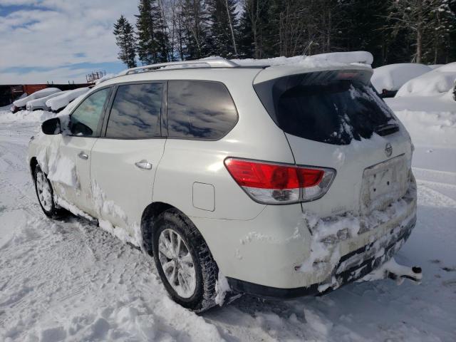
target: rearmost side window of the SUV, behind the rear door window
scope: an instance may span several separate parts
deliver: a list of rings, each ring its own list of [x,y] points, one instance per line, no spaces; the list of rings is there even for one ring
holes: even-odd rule
[[[170,138],[217,140],[236,125],[237,111],[222,83],[169,81],[167,123]]]

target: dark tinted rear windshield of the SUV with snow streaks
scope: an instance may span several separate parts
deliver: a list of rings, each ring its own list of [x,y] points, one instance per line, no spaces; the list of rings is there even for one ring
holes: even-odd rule
[[[279,78],[255,89],[279,128],[291,135],[334,145],[387,135],[398,125],[375,90],[337,73]]]

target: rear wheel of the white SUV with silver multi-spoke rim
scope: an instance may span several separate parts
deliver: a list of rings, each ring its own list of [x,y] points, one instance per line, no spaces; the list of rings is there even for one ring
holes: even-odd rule
[[[152,250],[155,266],[171,298],[198,313],[215,306],[219,269],[195,225],[177,209],[168,209],[157,217],[154,227]],[[179,253],[176,252],[177,237],[181,239]]]

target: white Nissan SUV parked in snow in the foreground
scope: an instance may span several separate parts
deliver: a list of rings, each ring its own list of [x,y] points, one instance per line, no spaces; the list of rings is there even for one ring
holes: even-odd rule
[[[388,261],[416,220],[413,145],[371,74],[227,60],[130,69],[32,138],[38,200],[48,217],[96,219],[153,254],[172,299],[195,311],[226,283],[331,291]]]

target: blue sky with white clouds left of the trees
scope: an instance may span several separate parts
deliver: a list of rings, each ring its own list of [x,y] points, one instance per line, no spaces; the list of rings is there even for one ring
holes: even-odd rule
[[[0,84],[83,82],[118,73],[113,24],[135,0],[0,0]]]

